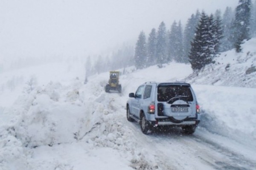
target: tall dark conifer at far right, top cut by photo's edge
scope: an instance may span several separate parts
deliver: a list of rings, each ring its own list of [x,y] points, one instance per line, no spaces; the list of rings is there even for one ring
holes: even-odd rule
[[[244,40],[250,39],[250,18],[251,18],[251,0],[239,0],[236,7],[236,17],[234,21],[234,46],[236,52],[241,52],[241,44]]]

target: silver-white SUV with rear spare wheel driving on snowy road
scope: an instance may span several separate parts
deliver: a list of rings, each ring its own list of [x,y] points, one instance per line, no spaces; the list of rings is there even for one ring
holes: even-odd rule
[[[140,123],[144,134],[158,126],[179,126],[192,134],[200,122],[200,107],[188,83],[145,82],[129,97],[127,119]]]

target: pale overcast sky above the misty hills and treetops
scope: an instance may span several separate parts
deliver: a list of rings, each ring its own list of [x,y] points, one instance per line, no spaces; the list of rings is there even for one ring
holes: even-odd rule
[[[239,0],[0,0],[0,58],[87,56]]]

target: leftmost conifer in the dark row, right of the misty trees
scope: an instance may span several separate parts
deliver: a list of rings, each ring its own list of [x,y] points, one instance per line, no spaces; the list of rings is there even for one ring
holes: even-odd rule
[[[137,69],[145,68],[146,57],[147,57],[146,36],[145,36],[145,33],[141,31],[136,43],[135,55],[134,55],[135,67]]]

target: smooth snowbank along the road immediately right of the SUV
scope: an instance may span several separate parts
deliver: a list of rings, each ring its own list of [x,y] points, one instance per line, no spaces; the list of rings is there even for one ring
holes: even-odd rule
[[[193,87],[201,105],[200,127],[238,141],[256,139],[255,88]]]

